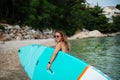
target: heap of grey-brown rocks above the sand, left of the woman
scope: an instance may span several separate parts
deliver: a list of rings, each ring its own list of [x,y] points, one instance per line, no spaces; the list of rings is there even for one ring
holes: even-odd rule
[[[29,26],[23,26],[22,28],[19,25],[8,25],[5,24],[5,32],[2,32],[4,36],[2,37],[2,40],[23,40],[23,39],[40,39],[43,38],[41,36],[47,36],[47,38],[50,38],[50,35],[43,35],[39,30],[34,30],[32,27]],[[48,32],[51,32],[52,30],[48,29]]]

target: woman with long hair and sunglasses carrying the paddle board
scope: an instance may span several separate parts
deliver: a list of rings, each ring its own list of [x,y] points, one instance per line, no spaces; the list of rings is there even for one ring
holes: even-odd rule
[[[64,32],[62,31],[56,31],[55,35],[55,42],[57,43],[54,52],[50,58],[50,61],[47,64],[47,69],[50,69],[50,66],[54,60],[54,58],[56,57],[56,54],[58,53],[58,51],[63,51],[68,53],[69,52],[69,46],[68,46],[68,40],[67,40],[67,36]]]

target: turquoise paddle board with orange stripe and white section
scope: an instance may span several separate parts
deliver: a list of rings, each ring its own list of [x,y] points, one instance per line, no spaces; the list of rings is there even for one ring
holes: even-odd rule
[[[59,51],[49,70],[53,48],[32,44],[18,50],[20,63],[30,80],[111,80],[86,62]]]

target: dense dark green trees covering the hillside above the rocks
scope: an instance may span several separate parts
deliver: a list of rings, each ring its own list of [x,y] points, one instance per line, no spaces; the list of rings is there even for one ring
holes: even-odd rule
[[[73,35],[77,29],[109,32],[113,27],[108,26],[117,26],[116,18],[114,24],[107,23],[99,6],[86,7],[85,2],[86,0],[0,0],[0,20],[40,30],[62,29],[68,36]]]

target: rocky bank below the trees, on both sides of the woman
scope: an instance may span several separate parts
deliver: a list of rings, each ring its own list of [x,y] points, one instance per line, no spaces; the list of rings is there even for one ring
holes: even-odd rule
[[[31,39],[49,39],[53,38],[54,30],[45,29],[43,31],[34,30],[29,26],[8,25],[2,24],[5,28],[4,31],[0,30],[0,43],[1,41],[13,41],[13,40],[31,40]],[[75,35],[69,37],[69,39],[81,39],[89,37],[107,37],[120,35],[120,32],[103,34],[98,30],[88,31],[83,30],[77,32]]]

